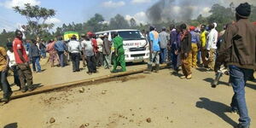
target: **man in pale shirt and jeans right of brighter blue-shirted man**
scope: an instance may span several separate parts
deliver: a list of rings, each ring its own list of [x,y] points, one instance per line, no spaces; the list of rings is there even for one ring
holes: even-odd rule
[[[160,63],[166,62],[167,56],[167,44],[170,40],[170,35],[166,32],[166,27],[162,28],[162,32],[159,34],[160,38]]]

